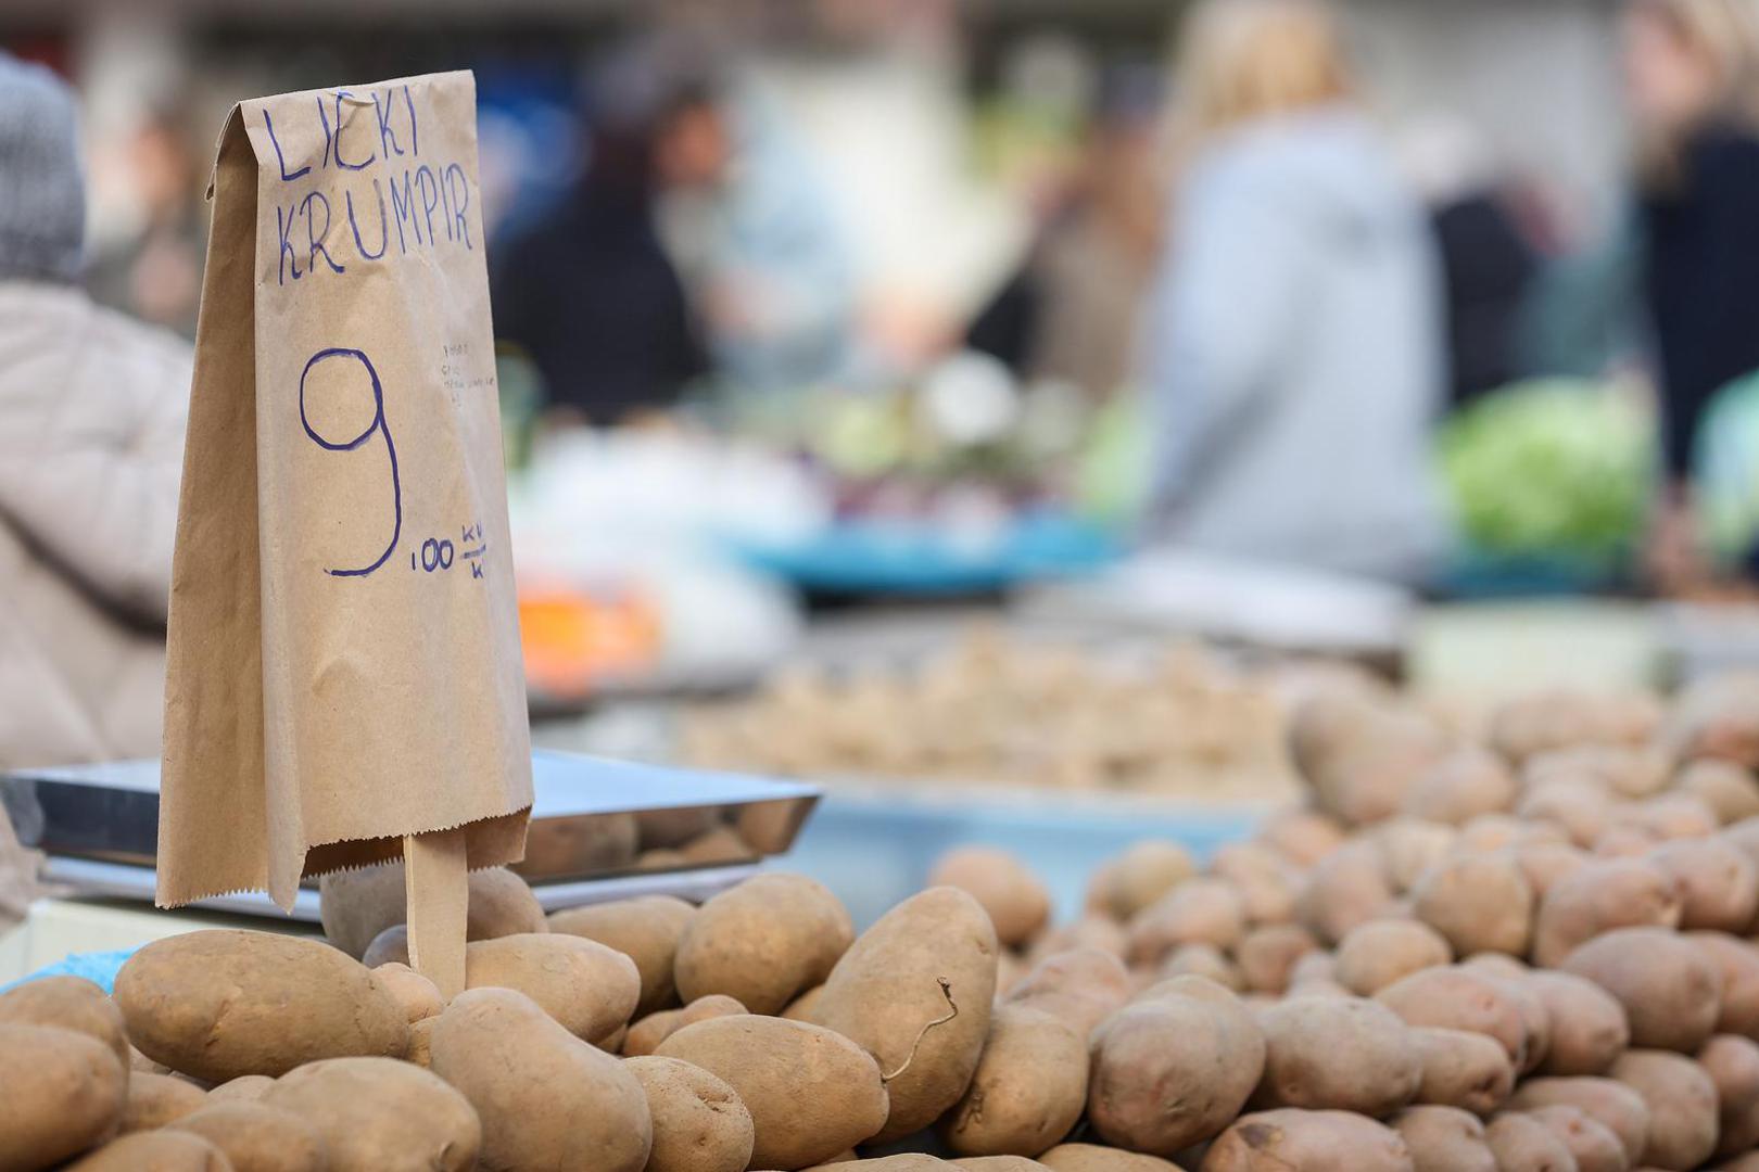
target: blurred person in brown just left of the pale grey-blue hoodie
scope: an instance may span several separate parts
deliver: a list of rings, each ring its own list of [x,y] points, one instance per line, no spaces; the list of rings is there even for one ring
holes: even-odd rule
[[[1106,86],[1071,190],[966,336],[1022,380],[1068,381],[1092,397],[1129,381],[1161,239],[1157,93],[1140,81],[1119,76]]]

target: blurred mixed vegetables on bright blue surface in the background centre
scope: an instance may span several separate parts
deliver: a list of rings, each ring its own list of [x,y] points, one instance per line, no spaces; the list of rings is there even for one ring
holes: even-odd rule
[[[1142,480],[1129,418],[1122,401],[960,351],[899,385],[739,397],[718,423],[797,457],[830,511],[744,541],[755,564],[811,590],[959,594],[1117,557]]]

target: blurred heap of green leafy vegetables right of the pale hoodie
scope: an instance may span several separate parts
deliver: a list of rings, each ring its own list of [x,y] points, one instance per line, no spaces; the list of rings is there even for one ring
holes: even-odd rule
[[[1441,471],[1469,553],[1609,573],[1638,545],[1653,422],[1620,387],[1523,383],[1465,408]]]

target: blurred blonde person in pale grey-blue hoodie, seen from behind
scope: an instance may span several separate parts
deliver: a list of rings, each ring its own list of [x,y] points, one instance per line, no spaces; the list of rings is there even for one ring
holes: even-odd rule
[[[1317,0],[1205,0],[1180,61],[1180,176],[1143,339],[1149,532],[1420,582],[1446,541],[1423,211]]]

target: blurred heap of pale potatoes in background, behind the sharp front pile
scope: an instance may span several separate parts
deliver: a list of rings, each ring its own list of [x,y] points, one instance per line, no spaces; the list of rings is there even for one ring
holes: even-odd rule
[[[690,764],[813,778],[1263,801],[1293,787],[1274,682],[1196,647],[974,633],[913,666],[800,668],[681,720]]]

